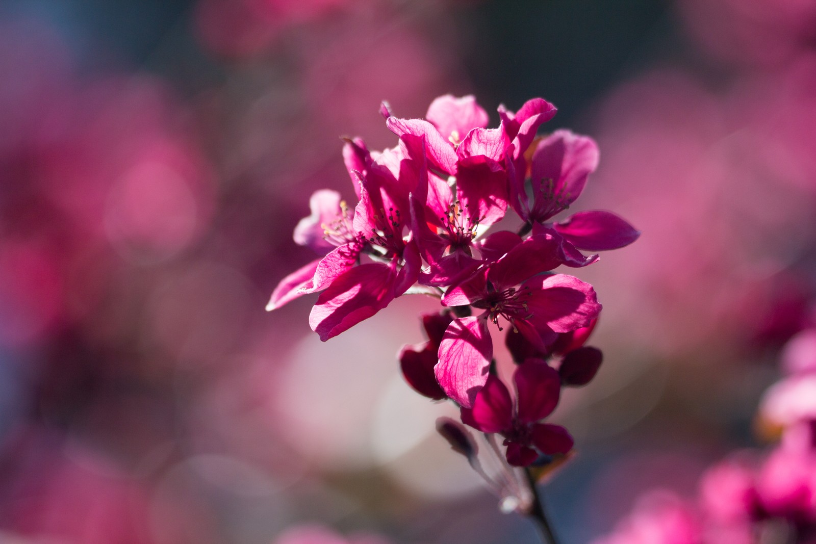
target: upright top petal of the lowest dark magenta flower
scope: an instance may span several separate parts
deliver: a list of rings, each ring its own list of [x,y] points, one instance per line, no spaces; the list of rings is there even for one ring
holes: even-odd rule
[[[543,360],[528,359],[518,365],[513,381],[516,383],[519,422],[537,422],[556,409],[561,396],[561,378],[556,369]]]

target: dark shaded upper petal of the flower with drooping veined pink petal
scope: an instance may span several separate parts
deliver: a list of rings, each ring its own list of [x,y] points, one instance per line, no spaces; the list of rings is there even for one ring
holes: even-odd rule
[[[561,264],[558,244],[552,237],[530,237],[490,265],[487,279],[497,291],[518,285]]]

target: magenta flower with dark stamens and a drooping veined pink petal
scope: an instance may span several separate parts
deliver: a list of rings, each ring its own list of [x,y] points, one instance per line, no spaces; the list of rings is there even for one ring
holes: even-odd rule
[[[498,325],[501,317],[530,343],[546,349],[539,330],[569,332],[589,325],[601,312],[592,285],[564,274],[540,275],[560,264],[554,244],[552,239],[528,238],[442,299],[446,306],[470,305],[483,311],[453,321],[439,347],[437,381],[460,405],[470,407],[486,382],[493,357],[488,321]]]

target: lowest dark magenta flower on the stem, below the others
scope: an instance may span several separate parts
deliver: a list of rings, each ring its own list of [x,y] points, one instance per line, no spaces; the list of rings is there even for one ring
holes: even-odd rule
[[[462,409],[462,421],[479,431],[501,434],[508,462],[516,467],[530,465],[540,453],[569,452],[573,440],[564,427],[539,423],[558,404],[561,394],[558,373],[542,360],[530,359],[516,369],[513,383],[515,403],[508,388],[491,374],[473,400],[472,408]]]

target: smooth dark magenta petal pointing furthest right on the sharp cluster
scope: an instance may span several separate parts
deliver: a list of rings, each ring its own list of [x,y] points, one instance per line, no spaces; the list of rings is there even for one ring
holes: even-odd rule
[[[579,211],[553,228],[581,250],[617,250],[631,244],[641,232],[618,215],[604,210]]]

